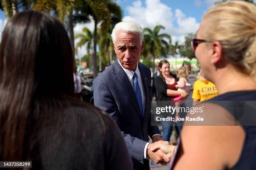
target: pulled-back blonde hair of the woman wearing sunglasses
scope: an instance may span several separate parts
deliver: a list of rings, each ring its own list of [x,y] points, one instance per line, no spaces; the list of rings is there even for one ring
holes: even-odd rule
[[[256,5],[223,2],[208,10],[203,20],[207,20],[205,39],[219,41],[226,61],[256,80]]]

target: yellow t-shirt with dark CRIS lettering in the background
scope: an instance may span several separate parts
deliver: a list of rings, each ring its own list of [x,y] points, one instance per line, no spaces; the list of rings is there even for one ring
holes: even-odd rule
[[[218,90],[215,84],[210,81],[202,82],[195,81],[192,98],[200,102],[208,100],[218,95]]]

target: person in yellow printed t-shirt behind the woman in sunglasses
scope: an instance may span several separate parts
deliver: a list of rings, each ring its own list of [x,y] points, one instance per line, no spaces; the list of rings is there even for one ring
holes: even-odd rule
[[[203,76],[202,69],[197,76],[197,80],[194,83],[194,90],[193,90],[193,107],[198,104],[198,102],[202,102],[208,100],[212,97],[218,95],[218,90],[215,84],[207,80]]]

